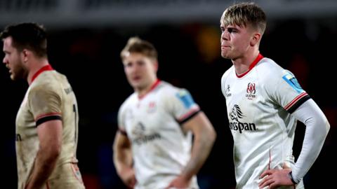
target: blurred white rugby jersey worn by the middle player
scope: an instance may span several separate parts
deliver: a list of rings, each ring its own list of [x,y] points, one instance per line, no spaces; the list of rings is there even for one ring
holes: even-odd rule
[[[192,133],[181,124],[199,112],[185,89],[157,80],[150,92],[135,92],[121,105],[119,130],[131,141],[136,188],[166,188],[190,160]],[[190,188],[199,188],[194,176]]]

